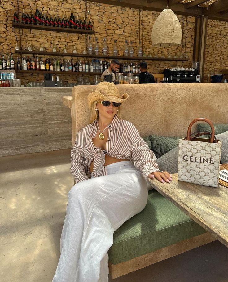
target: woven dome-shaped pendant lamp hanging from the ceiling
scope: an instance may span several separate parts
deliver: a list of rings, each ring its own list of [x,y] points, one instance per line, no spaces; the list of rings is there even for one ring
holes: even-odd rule
[[[157,17],[152,28],[152,45],[168,47],[181,45],[182,31],[177,16],[172,10],[164,9]]]

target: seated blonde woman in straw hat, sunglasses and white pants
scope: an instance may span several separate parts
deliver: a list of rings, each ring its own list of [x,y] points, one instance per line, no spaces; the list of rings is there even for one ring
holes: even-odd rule
[[[113,232],[147,204],[147,179],[172,181],[134,125],[121,119],[128,94],[101,82],[88,95],[90,124],[76,135],[61,255],[53,282],[107,282]],[[134,164],[133,164],[134,163]]]

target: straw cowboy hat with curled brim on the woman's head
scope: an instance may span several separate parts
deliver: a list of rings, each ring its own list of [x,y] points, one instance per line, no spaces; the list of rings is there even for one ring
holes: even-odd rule
[[[94,101],[102,99],[109,102],[122,103],[129,95],[124,93],[122,96],[113,82],[103,81],[98,83],[94,92],[87,96],[89,109],[91,110]]]

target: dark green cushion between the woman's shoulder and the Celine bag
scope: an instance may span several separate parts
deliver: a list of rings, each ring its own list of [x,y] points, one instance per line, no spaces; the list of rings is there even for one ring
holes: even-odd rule
[[[156,157],[159,158],[178,146],[179,139],[181,138],[182,137],[150,135],[150,140],[152,142],[151,150],[154,152]]]

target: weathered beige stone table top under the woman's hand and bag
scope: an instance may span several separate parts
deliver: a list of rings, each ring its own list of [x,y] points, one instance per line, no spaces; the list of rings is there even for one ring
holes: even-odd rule
[[[228,247],[228,188],[218,188],[178,181],[161,183],[149,179],[153,188],[169,199],[216,239]]]

